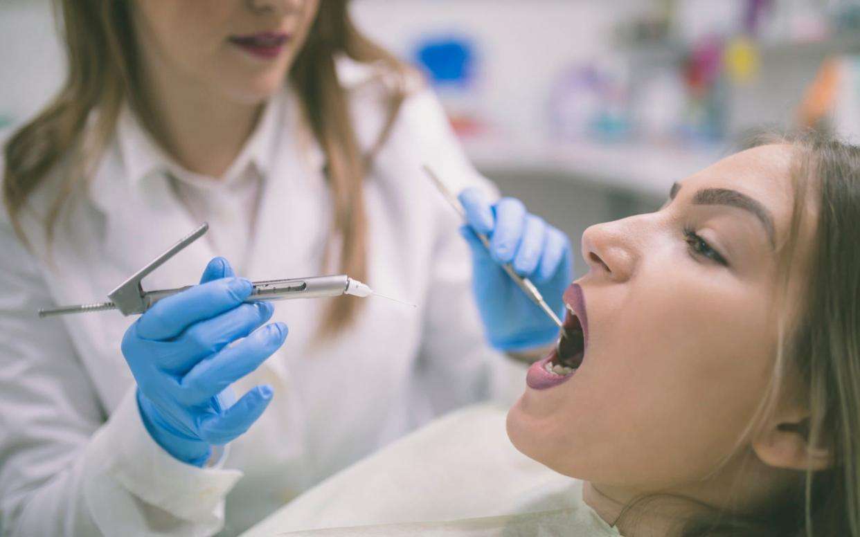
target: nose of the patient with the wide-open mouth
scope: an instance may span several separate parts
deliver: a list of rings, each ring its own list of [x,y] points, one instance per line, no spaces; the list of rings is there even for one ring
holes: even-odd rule
[[[582,257],[589,272],[618,283],[633,276],[639,259],[634,220],[630,217],[586,229],[582,234]]]

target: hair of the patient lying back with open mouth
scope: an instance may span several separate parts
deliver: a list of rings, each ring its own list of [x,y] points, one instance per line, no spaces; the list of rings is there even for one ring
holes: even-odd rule
[[[804,381],[805,393],[799,395],[810,410],[799,434],[807,436],[809,446],[828,449],[832,464],[797,472],[755,512],[694,502],[703,515],[679,522],[681,537],[860,537],[860,148],[811,131],[759,136],[746,147],[773,143],[797,150],[787,185],[793,186],[795,201],[789,237],[780,245],[783,292],[774,306],[784,317],[780,342],[771,385],[747,432],[791,389],[786,372],[796,371]],[[810,217],[810,201],[818,221],[807,261],[799,257],[798,237]],[[801,303],[786,308],[779,301],[790,295],[789,279],[804,262],[809,272]],[[632,515],[634,506],[666,496],[639,498],[619,521]]]

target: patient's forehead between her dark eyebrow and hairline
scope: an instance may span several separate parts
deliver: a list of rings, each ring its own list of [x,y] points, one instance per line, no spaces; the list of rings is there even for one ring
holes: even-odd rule
[[[763,145],[728,156],[680,182],[679,195],[691,197],[705,188],[725,188],[746,194],[773,216],[777,237],[787,233],[794,208],[798,150],[787,144]]]

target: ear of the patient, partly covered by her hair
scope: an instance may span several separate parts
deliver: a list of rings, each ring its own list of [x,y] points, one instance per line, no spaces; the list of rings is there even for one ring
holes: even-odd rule
[[[802,412],[776,416],[753,440],[753,451],[771,467],[825,470],[832,466],[829,447],[809,444],[809,416]]]

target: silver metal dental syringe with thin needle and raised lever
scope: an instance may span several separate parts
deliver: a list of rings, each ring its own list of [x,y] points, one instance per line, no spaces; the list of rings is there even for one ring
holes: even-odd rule
[[[190,285],[177,289],[144,291],[140,280],[163,265],[165,261],[179,253],[183,248],[203,236],[209,229],[208,223],[203,223],[199,228],[183,237],[175,245],[169,247],[164,253],[153,259],[131,278],[117,286],[107,296],[110,302],[96,304],[80,304],[75,306],[64,306],[60,308],[42,308],[39,316],[51,317],[54,315],[80,314],[95,311],[107,311],[118,309],[123,315],[143,314],[153,304],[183,290],[189,289]],[[288,300],[293,298],[320,298],[323,296],[380,296],[394,302],[400,302],[415,308],[415,304],[408,304],[391,298],[390,296],[375,293],[367,284],[359,282],[355,278],[349,278],[346,274],[337,276],[318,276],[314,278],[286,278],[276,280],[265,280],[252,282],[254,290],[245,302]]]

